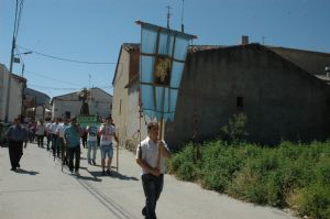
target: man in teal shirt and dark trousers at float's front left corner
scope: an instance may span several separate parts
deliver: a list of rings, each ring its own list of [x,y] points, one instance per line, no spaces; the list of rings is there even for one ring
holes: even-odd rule
[[[72,174],[79,175],[80,166],[80,136],[82,132],[77,123],[77,118],[70,119],[70,124],[64,129],[64,139],[67,146],[68,167]],[[74,165],[75,158],[75,165]]]

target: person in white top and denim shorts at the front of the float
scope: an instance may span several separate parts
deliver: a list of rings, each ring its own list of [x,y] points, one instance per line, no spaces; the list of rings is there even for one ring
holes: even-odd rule
[[[106,122],[100,127],[98,134],[101,136],[100,151],[101,151],[102,175],[106,175],[107,156],[108,156],[107,174],[111,175],[111,162],[113,156],[112,140],[114,139],[117,143],[119,142],[118,136],[116,135],[116,128],[112,123],[111,116],[106,118]]]

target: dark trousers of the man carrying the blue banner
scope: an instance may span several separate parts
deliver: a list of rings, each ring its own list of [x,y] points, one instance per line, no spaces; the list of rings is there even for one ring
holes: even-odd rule
[[[142,175],[142,186],[145,196],[145,207],[142,212],[147,219],[156,219],[156,204],[164,185],[164,175],[154,176],[152,174]]]

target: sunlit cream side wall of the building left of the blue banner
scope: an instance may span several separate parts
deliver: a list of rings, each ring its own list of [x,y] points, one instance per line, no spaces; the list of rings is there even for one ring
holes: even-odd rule
[[[123,44],[113,77],[112,118],[119,134],[120,145],[134,147],[140,140],[139,114],[139,44]],[[142,136],[146,128],[142,123]]]

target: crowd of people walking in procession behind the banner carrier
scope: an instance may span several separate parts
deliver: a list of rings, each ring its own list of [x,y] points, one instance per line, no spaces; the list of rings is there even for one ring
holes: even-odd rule
[[[111,116],[107,117],[101,127],[80,127],[77,118],[55,119],[54,122],[36,124],[37,146],[44,147],[44,136],[47,138],[46,149],[52,149],[53,156],[62,158],[63,165],[68,165],[72,174],[79,175],[80,167],[80,139],[87,134],[87,160],[90,165],[96,165],[97,146],[100,146],[102,175],[111,175],[111,163],[113,156],[113,140],[119,142]],[[30,140],[29,128],[21,124],[21,118],[14,119],[14,124],[6,133],[9,141],[9,153],[12,171],[20,167],[23,155],[23,143],[26,146]],[[99,140],[99,141],[98,141]],[[99,142],[99,143],[98,143]],[[108,158],[108,161],[107,161]],[[107,162],[106,162],[107,161]]]

